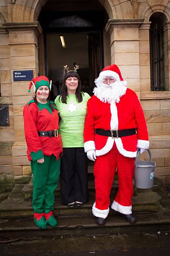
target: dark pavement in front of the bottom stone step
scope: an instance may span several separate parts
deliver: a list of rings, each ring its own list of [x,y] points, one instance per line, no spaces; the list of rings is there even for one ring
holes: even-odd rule
[[[0,256],[169,256],[170,231],[61,238],[0,239]]]

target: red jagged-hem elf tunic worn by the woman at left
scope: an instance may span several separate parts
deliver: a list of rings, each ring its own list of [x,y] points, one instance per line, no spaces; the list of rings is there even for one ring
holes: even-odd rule
[[[23,108],[28,160],[38,160],[43,156],[51,156],[52,154],[59,159],[59,155],[63,151],[60,134],[58,137],[38,136],[38,131],[59,129],[58,111],[54,109],[51,114],[46,108],[39,110],[35,102],[32,101],[31,104],[28,102]]]

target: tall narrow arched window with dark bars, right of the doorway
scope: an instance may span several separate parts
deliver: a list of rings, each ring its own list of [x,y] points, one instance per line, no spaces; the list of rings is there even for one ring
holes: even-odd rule
[[[150,81],[151,91],[165,90],[164,31],[163,22],[157,16],[150,18]]]

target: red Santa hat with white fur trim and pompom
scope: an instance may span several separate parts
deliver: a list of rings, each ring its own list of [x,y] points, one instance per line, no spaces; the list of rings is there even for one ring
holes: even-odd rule
[[[107,76],[115,78],[116,81],[121,82],[122,85],[126,86],[127,82],[123,80],[123,77],[121,76],[121,72],[117,65],[112,64],[109,66],[106,66],[102,72],[100,72],[99,77],[100,80],[104,80]],[[97,78],[97,79],[98,79]]]

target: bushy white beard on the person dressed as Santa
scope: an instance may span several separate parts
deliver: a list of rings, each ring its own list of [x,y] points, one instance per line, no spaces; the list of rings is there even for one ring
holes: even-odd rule
[[[103,82],[98,82],[96,86],[97,87],[93,90],[94,95],[104,103],[111,103],[112,100],[118,103],[120,97],[123,96],[127,90],[127,87],[122,85],[121,81],[116,81],[109,86]]]

